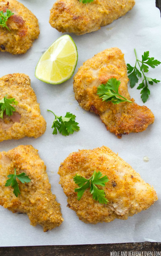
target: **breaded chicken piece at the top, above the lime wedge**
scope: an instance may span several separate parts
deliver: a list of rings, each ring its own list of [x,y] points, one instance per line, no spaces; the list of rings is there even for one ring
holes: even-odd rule
[[[51,11],[49,23],[61,32],[82,35],[100,29],[125,15],[133,8],[134,0],[57,0]]]

